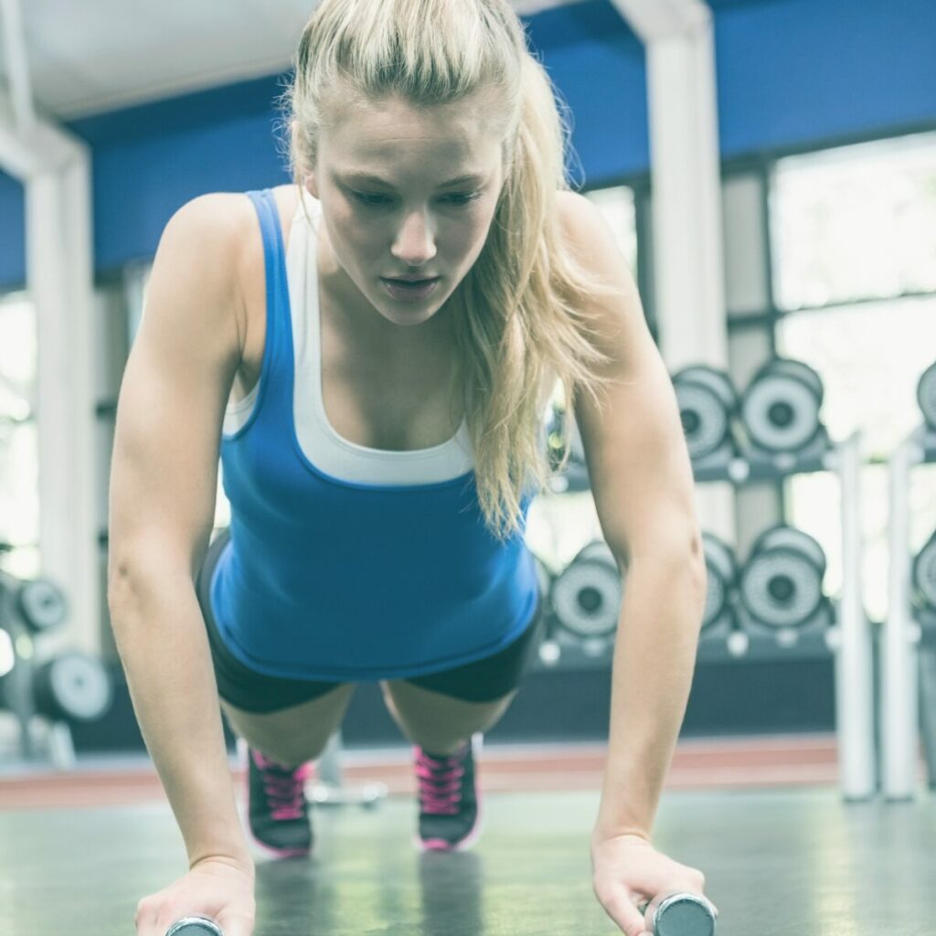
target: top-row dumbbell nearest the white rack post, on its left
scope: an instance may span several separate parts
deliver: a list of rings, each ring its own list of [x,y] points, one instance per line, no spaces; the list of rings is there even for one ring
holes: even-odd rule
[[[767,453],[802,454],[822,442],[822,402],[822,378],[809,365],[790,358],[768,361],[741,399],[752,446]]]

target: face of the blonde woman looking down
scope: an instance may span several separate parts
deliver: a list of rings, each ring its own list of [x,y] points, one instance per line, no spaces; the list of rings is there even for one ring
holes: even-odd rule
[[[502,140],[486,109],[482,97],[430,110],[390,98],[323,130],[306,185],[329,240],[321,285],[340,309],[416,326],[461,283],[504,181]],[[407,287],[401,278],[432,282]]]

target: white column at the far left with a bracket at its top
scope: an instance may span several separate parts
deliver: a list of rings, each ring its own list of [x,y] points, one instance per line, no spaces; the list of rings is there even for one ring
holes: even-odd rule
[[[26,280],[37,309],[41,572],[66,592],[50,644],[98,651],[91,157],[43,120],[23,129],[0,92],[0,167],[26,194]]]

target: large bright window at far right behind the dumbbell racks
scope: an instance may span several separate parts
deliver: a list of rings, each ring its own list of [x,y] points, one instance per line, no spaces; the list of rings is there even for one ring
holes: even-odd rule
[[[936,360],[936,135],[782,160],[771,210],[778,304],[809,310],[782,318],[778,352],[822,376],[833,440],[860,430],[866,456],[885,462],[922,422],[916,384]],[[865,607],[876,621],[887,613],[888,477],[884,463],[862,475]],[[785,490],[788,522],[826,548],[837,592],[837,479],[796,476]],[[936,527],[933,466],[914,471],[911,501],[916,549]]]

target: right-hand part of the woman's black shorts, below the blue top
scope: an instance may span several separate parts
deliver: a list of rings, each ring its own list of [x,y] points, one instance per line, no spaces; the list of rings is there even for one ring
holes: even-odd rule
[[[539,646],[544,624],[542,597],[532,621],[504,650],[483,660],[409,680],[411,685],[464,702],[495,702],[516,693],[530,659]]]

